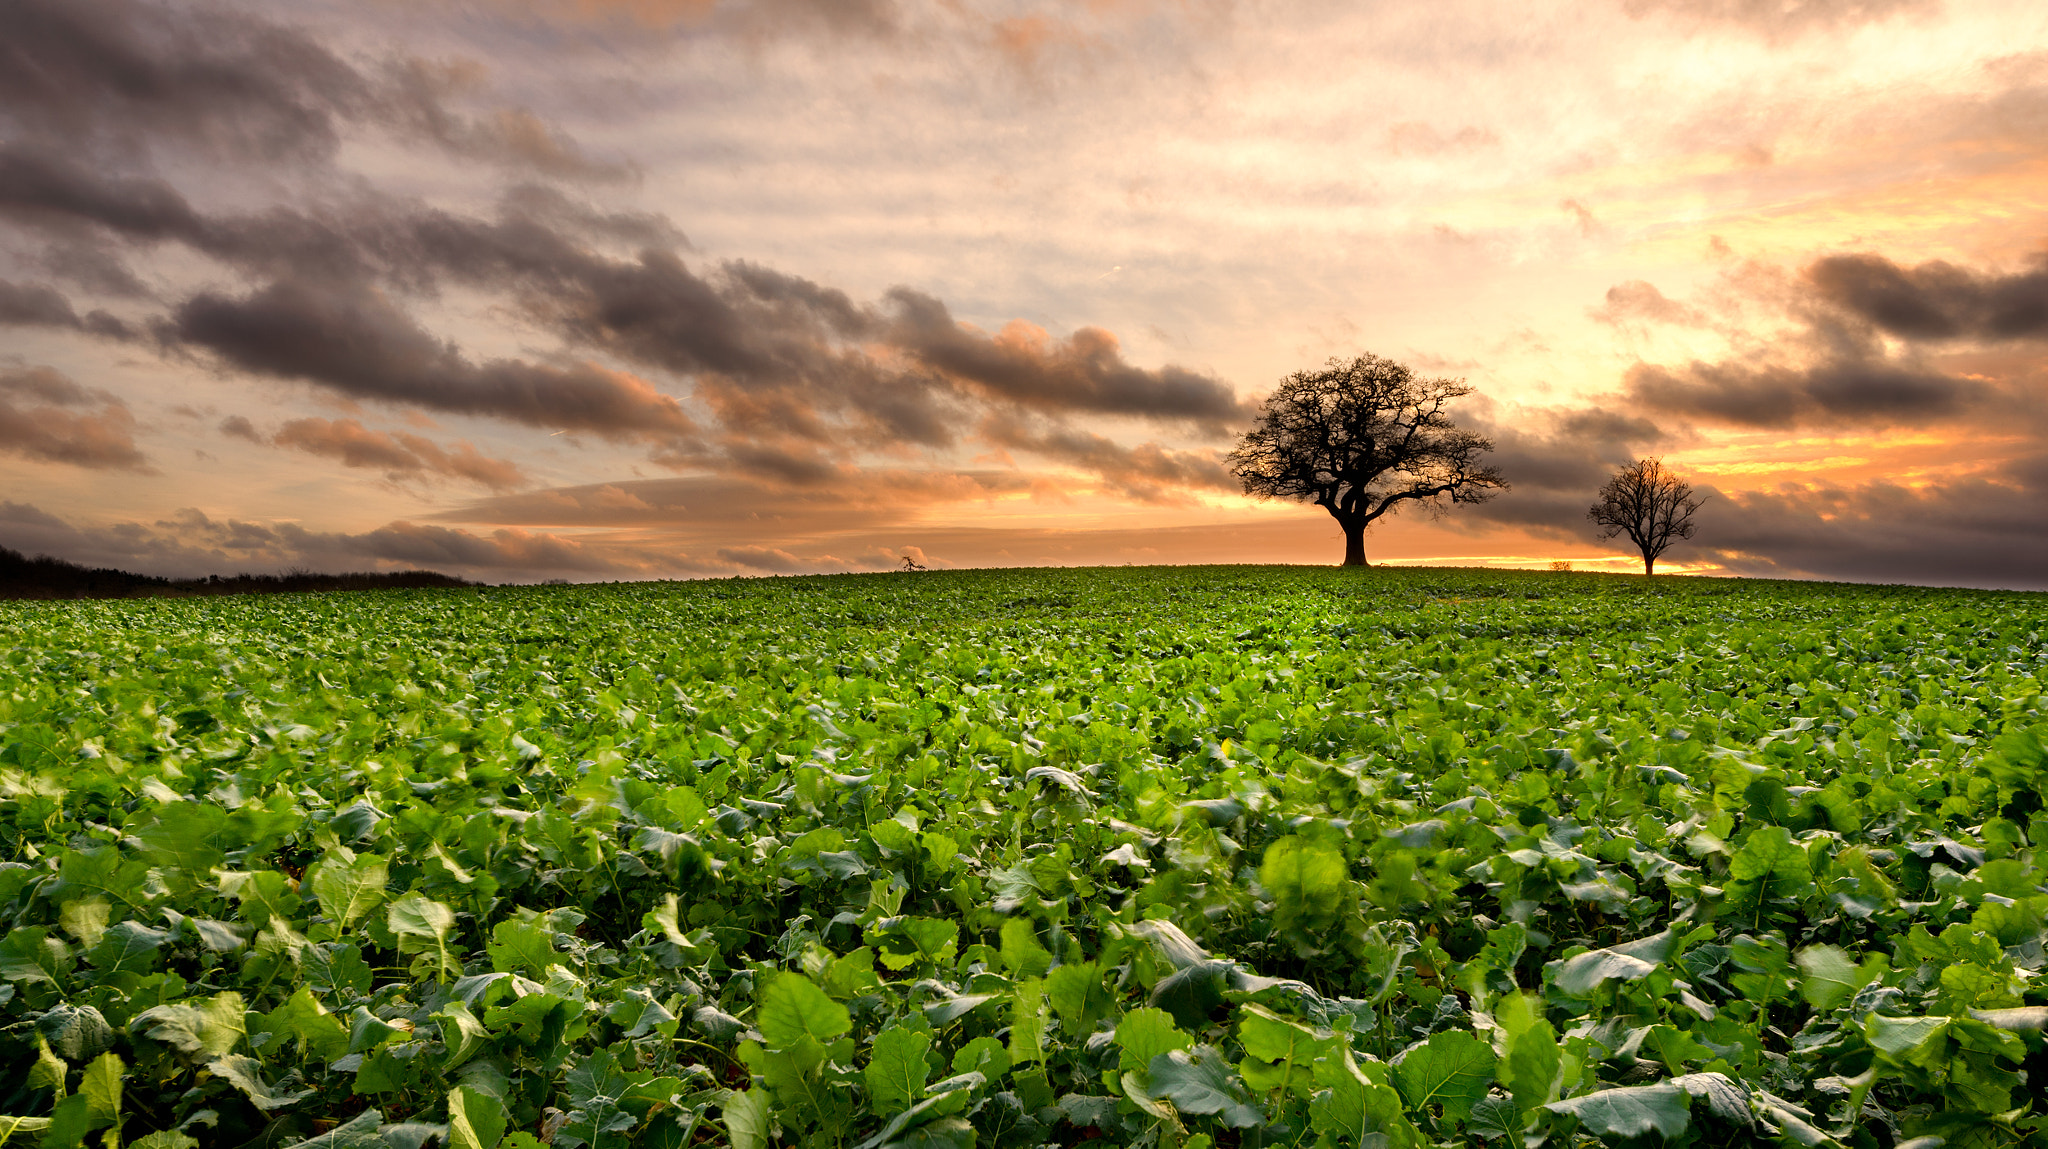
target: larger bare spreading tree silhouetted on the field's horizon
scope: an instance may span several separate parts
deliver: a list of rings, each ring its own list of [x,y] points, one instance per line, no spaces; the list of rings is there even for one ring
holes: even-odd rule
[[[1231,451],[1245,494],[1313,502],[1343,528],[1343,565],[1366,565],[1366,526],[1415,502],[1442,510],[1505,490],[1481,465],[1493,440],[1450,422],[1462,379],[1417,379],[1376,354],[1331,358],[1280,381]]]

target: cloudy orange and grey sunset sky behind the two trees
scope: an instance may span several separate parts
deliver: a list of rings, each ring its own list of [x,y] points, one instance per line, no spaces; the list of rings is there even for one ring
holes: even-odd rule
[[[483,582],[1335,563],[1225,455],[1464,379],[1376,563],[2048,588],[2036,0],[0,0],[0,545]]]

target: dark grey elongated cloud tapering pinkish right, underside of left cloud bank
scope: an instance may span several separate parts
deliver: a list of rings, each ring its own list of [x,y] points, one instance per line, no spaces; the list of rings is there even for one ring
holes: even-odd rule
[[[471,363],[373,291],[272,283],[246,297],[186,299],[164,334],[254,375],[303,379],[360,399],[496,416],[606,438],[694,434],[682,406],[596,365]]]

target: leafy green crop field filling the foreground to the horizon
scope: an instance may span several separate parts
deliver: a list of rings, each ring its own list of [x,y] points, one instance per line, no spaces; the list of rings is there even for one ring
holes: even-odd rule
[[[0,1137],[2048,1145],[2044,629],[1305,567],[0,604]]]

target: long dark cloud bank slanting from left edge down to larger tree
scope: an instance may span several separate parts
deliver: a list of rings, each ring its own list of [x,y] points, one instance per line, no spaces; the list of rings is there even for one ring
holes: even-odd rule
[[[651,442],[670,467],[723,455],[821,481],[862,451],[952,446],[991,412],[1128,416],[1206,436],[1249,414],[1221,379],[1139,367],[1100,328],[1057,338],[1012,322],[987,334],[905,287],[860,303],[745,260],[696,270],[666,219],[596,211],[547,188],[514,188],[496,215],[375,195],[209,215],[154,176],[0,147],[0,213],[137,248],[184,244],[268,281],[174,303],[154,324],[166,348],[350,397]],[[623,244],[637,250],[616,254]],[[715,416],[711,438],[696,440],[678,399],[596,363],[469,360],[406,313],[410,297],[444,285],[508,299],[575,354],[688,379]],[[61,320],[43,295],[18,307]]]

